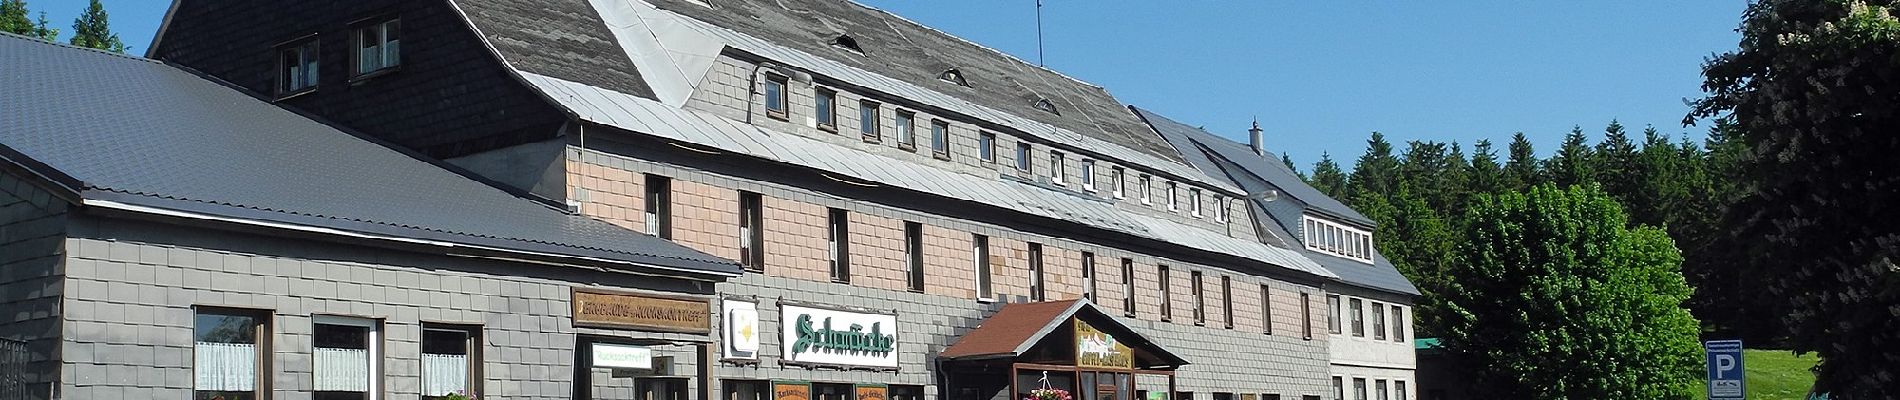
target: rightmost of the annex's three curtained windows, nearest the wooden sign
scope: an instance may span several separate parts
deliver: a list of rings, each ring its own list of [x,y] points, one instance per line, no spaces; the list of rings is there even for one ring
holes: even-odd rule
[[[481,394],[481,328],[422,324],[422,398]]]

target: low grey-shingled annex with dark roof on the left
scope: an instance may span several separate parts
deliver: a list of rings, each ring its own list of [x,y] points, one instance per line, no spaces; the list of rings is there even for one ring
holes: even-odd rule
[[[156,61],[0,34],[0,398],[709,381],[663,364],[714,353],[735,262]]]

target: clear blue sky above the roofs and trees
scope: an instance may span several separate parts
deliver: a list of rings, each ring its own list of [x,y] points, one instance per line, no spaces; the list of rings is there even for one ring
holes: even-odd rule
[[[106,0],[144,53],[163,0]],[[866,0],[1036,61],[1034,0]],[[1045,0],[1051,68],[1129,104],[1244,140],[1260,118],[1273,150],[1307,169],[1349,161],[1366,135],[1503,142],[1548,154],[1571,125],[1609,119],[1700,140],[1682,127],[1702,59],[1733,49],[1746,2],[1284,2]],[[84,0],[28,0],[70,34]]]

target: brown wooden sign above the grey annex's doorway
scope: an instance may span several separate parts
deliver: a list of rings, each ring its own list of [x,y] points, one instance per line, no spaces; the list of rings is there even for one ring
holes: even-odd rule
[[[707,300],[574,290],[574,326],[712,334]]]

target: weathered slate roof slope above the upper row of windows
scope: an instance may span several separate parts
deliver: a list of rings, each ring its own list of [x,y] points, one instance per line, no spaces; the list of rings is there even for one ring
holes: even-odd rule
[[[950,36],[910,19],[847,0],[650,0],[654,6],[707,21],[779,45],[902,80],[1020,118],[1091,135],[1113,144],[1178,161],[1165,140],[1129,116],[1106,89],[1001,51]],[[840,34],[857,40],[864,55],[830,45]],[[969,87],[937,80],[956,68]],[[576,80],[591,83],[587,80]],[[1060,112],[1036,110],[1049,99]]]

